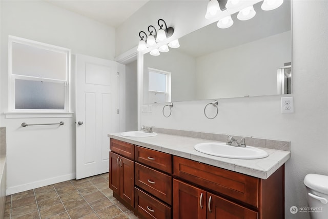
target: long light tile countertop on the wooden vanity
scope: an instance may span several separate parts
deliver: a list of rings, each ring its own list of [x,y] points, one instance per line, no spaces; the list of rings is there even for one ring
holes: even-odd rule
[[[215,142],[200,138],[184,137],[178,135],[162,134],[153,137],[125,137],[120,133],[108,134],[108,137],[128,142],[145,148],[185,157],[203,164],[220,167],[266,180],[291,157],[290,151],[261,148],[269,156],[260,159],[244,160],[212,156],[198,152],[194,146],[199,143]]]

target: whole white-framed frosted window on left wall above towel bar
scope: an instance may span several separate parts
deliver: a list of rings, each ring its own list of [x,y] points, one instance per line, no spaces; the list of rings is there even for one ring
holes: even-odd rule
[[[9,36],[9,111],[69,112],[70,50]]]

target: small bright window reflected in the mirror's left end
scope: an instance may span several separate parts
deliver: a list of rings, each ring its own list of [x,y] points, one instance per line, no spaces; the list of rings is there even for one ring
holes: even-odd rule
[[[148,92],[150,103],[171,102],[171,73],[148,68]]]

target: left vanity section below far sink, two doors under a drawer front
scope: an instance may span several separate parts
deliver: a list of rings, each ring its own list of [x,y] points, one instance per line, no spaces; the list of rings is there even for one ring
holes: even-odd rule
[[[110,149],[109,188],[113,190],[117,200],[126,203],[127,207],[132,209],[134,208],[134,158],[131,159],[131,156],[132,154],[134,156],[134,145],[111,138]]]

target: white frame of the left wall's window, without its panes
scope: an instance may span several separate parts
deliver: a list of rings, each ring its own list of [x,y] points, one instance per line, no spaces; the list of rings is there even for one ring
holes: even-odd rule
[[[52,79],[45,77],[35,77],[17,75],[12,73],[12,43],[32,46],[38,49],[50,50],[53,52],[64,53],[66,55],[66,76],[65,80]],[[40,43],[17,36],[8,36],[8,113],[70,113],[70,78],[71,78],[71,50],[50,44]],[[64,83],[64,109],[16,109],[15,108],[15,79],[29,81],[47,81],[53,83]]]

